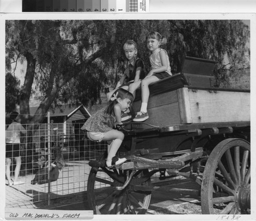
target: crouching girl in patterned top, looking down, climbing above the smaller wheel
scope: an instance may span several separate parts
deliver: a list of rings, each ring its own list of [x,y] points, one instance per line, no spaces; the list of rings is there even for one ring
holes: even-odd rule
[[[110,104],[99,109],[81,127],[82,130],[87,131],[87,137],[92,141],[112,141],[108,145],[108,157],[106,158],[106,166],[108,167],[119,165],[126,161],[125,158],[119,158],[114,162],[113,157],[115,157],[123,141],[124,134],[119,130],[113,129],[113,127],[122,124],[121,113],[130,107],[132,101],[133,95],[130,92],[118,89],[111,97]]]

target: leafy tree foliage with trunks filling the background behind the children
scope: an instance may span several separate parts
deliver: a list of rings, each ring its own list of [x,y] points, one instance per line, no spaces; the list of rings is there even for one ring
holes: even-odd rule
[[[38,123],[51,106],[93,105],[100,90],[115,86],[125,57],[123,43],[138,43],[139,56],[150,70],[146,35],[158,31],[173,73],[185,55],[216,60],[217,86],[247,68],[249,28],[241,20],[9,20],[6,22],[6,70],[27,62],[20,93],[23,122]],[[247,63],[246,63],[247,62]],[[244,64],[244,67],[243,67]],[[29,118],[32,85],[41,104]]]

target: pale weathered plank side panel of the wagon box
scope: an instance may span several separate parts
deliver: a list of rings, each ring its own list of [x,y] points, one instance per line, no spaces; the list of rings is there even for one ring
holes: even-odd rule
[[[178,89],[178,94],[181,94],[179,96],[181,123],[250,120],[250,94],[247,92],[196,90],[183,87]]]

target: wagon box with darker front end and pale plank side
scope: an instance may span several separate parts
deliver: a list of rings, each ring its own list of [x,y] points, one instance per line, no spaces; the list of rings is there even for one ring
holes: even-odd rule
[[[184,76],[173,76],[150,86],[145,122],[155,126],[175,124],[240,122],[250,120],[250,93],[245,90],[200,89],[183,84]],[[177,83],[177,81],[179,83]],[[158,93],[158,87],[163,90]],[[140,111],[140,90],[133,103]],[[147,128],[137,125],[137,128]]]

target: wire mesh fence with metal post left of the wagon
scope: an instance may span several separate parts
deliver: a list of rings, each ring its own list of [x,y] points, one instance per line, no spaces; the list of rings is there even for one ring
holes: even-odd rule
[[[100,156],[107,144],[87,139],[86,133],[79,129],[81,125],[67,122],[23,125],[26,134],[20,133],[19,185],[11,186],[6,179],[6,207],[23,208],[41,201],[50,205],[54,198],[86,191],[88,162]],[[18,167],[15,150],[6,151],[10,151],[10,175],[14,181]]]

